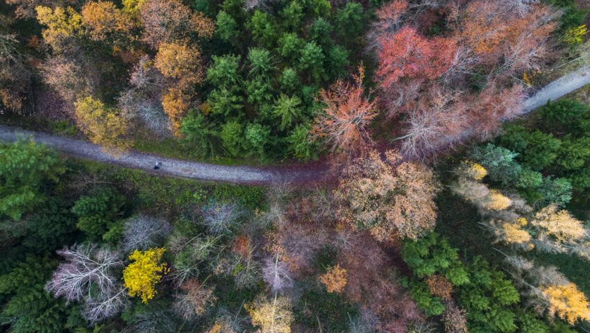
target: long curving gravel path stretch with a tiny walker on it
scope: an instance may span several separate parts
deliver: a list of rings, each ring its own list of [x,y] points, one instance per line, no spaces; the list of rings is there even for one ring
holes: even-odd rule
[[[325,167],[230,167],[224,165],[189,162],[162,158],[156,155],[130,151],[121,157],[104,153],[101,147],[56,135],[36,133],[19,128],[0,125],[0,140],[13,142],[19,135],[31,135],[35,141],[57,148],[62,153],[85,160],[117,164],[121,167],[142,169],[149,173],[166,174],[199,180],[232,182],[235,184],[269,185],[276,182],[307,183],[322,180],[326,175]],[[155,161],[160,162],[160,169],[153,170]]]

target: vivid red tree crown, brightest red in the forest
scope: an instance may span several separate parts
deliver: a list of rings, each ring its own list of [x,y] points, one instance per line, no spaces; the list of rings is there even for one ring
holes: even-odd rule
[[[379,37],[378,51],[380,87],[388,91],[401,78],[441,76],[451,64],[457,48],[456,41],[445,37],[427,40],[414,28],[403,27],[394,35]]]

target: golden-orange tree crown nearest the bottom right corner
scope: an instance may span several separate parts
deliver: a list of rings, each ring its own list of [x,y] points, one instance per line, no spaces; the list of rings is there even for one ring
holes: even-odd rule
[[[561,286],[550,285],[542,289],[549,302],[550,316],[559,316],[573,325],[578,319],[590,320],[590,303],[578,287],[569,282]]]

